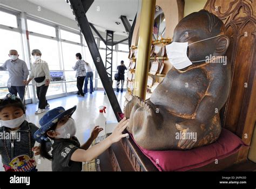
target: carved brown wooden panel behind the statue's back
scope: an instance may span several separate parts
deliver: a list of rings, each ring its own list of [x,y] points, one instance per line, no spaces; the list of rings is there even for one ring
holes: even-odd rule
[[[221,110],[223,127],[248,145],[255,124],[255,104],[250,108],[255,102],[255,8],[254,0],[208,0],[204,8],[223,20],[231,39],[226,55],[232,66],[232,83],[226,106]],[[240,152],[238,160],[245,159],[247,152]]]

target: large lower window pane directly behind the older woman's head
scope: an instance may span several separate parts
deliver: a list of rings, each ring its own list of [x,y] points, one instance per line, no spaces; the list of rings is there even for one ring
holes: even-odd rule
[[[42,60],[48,63],[49,69],[60,69],[58,44],[56,40],[30,35],[29,43],[31,51],[37,48],[42,52]],[[33,62],[34,60],[32,59],[31,61]]]

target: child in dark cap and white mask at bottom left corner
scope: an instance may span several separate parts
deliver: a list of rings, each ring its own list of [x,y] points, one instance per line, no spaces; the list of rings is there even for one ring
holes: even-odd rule
[[[39,148],[33,134],[38,129],[25,120],[24,105],[15,95],[0,99],[0,155],[5,171],[37,171]],[[50,148],[49,148],[50,150]]]

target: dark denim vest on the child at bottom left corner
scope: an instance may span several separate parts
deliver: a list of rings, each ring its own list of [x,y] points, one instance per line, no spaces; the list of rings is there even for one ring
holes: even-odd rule
[[[0,154],[2,156],[2,163],[4,165],[8,165],[10,163],[10,159],[25,153],[29,155],[30,158],[33,157],[33,152],[31,149],[36,142],[36,140],[33,138],[33,134],[37,129],[38,127],[36,127],[35,124],[24,121],[21,125],[21,129],[17,131],[19,134],[16,134],[16,136],[19,137],[11,140],[9,138],[3,138],[3,134],[6,134],[7,132],[10,134],[9,128],[0,128],[0,133],[2,134],[2,137],[0,138]]]

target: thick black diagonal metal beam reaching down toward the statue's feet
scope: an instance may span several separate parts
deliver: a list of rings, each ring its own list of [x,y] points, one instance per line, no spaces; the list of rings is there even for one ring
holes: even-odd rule
[[[70,0],[70,4],[72,6],[73,12],[77,18],[77,22],[80,26],[80,30],[82,31],[86,43],[88,45],[89,51],[91,53],[93,62],[95,63],[95,67],[99,74],[99,78],[102,81],[102,85],[105,89],[107,98],[111,104],[111,107],[114,111],[114,115],[116,115],[117,120],[120,118],[118,116],[118,112],[122,112],[120,105],[118,103],[116,94],[114,94],[114,90],[112,88],[111,81],[106,73],[106,69],[102,58],[100,57],[98,47],[95,43],[95,38],[93,37],[90,24],[85,15],[84,7],[86,6],[85,0]]]

